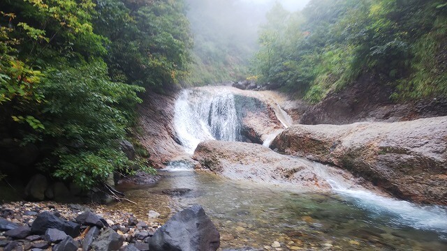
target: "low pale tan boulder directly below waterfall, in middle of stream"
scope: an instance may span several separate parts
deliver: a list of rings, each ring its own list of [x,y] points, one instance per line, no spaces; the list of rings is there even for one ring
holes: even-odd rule
[[[351,185],[349,172],[304,158],[281,155],[258,144],[243,142],[201,142],[194,152],[196,168],[210,169],[235,180],[282,183],[302,191],[329,192],[328,177]]]

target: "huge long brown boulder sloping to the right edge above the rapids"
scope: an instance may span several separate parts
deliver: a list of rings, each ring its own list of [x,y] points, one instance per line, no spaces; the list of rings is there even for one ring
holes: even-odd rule
[[[395,196],[447,205],[447,116],[397,123],[295,125],[272,149],[330,163]]]

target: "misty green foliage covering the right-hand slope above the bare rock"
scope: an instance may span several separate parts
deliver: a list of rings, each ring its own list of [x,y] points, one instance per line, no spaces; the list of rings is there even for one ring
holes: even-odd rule
[[[440,0],[313,0],[298,13],[275,6],[255,74],[310,102],[363,74],[397,86],[395,98],[447,96],[446,10]]]

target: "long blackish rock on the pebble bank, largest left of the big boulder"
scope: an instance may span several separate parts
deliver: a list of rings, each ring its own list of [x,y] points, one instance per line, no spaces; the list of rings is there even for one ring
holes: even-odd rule
[[[72,237],[76,237],[80,234],[80,225],[75,222],[68,222],[61,220],[55,215],[49,212],[43,212],[37,215],[31,225],[31,230],[34,234],[45,234],[47,229],[59,229]]]

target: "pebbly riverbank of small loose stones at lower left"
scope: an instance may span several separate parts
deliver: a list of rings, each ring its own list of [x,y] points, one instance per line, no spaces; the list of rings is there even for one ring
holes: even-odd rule
[[[98,218],[103,219],[103,225],[115,231],[115,237],[110,238],[110,240],[119,239],[119,242],[124,247],[123,250],[128,250],[125,248],[126,246],[129,246],[129,248],[135,247],[138,250],[148,250],[148,237],[152,236],[156,229],[161,227],[161,222],[156,220],[156,218],[138,219],[133,213],[124,210],[110,210],[101,205],[60,204],[53,201],[16,201],[1,204],[0,206],[0,250],[30,250],[31,248],[52,250],[52,248],[55,249],[54,246],[58,243],[62,243],[64,240],[55,237],[64,235],[61,233],[59,235],[54,234],[54,236],[51,236],[51,239],[48,239],[50,237],[46,233],[31,233],[31,226],[35,227],[33,222],[38,215],[44,212],[51,213],[54,217],[59,218],[60,222],[80,222],[78,217],[83,212],[97,215]],[[156,214],[153,213],[152,216],[154,215]],[[8,229],[16,228],[20,229],[20,231],[17,230],[17,233],[7,232]],[[82,234],[73,236],[75,244],[78,243],[79,245],[79,243],[82,243],[84,245],[86,240],[88,241],[87,233],[91,229],[93,227],[84,222],[80,226]],[[99,234],[99,230],[97,230],[96,234]],[[110,236],[114,236],[114,234],[110,233]],[[63,238],[65,237],[63,236]],[[91,240],[90,243],[92,243]],[[103,243],[101,245],[108,244]],[[147,248],[145,248],[146,246]],[[59,247],[59,250],[66,249],[60,249]]]

